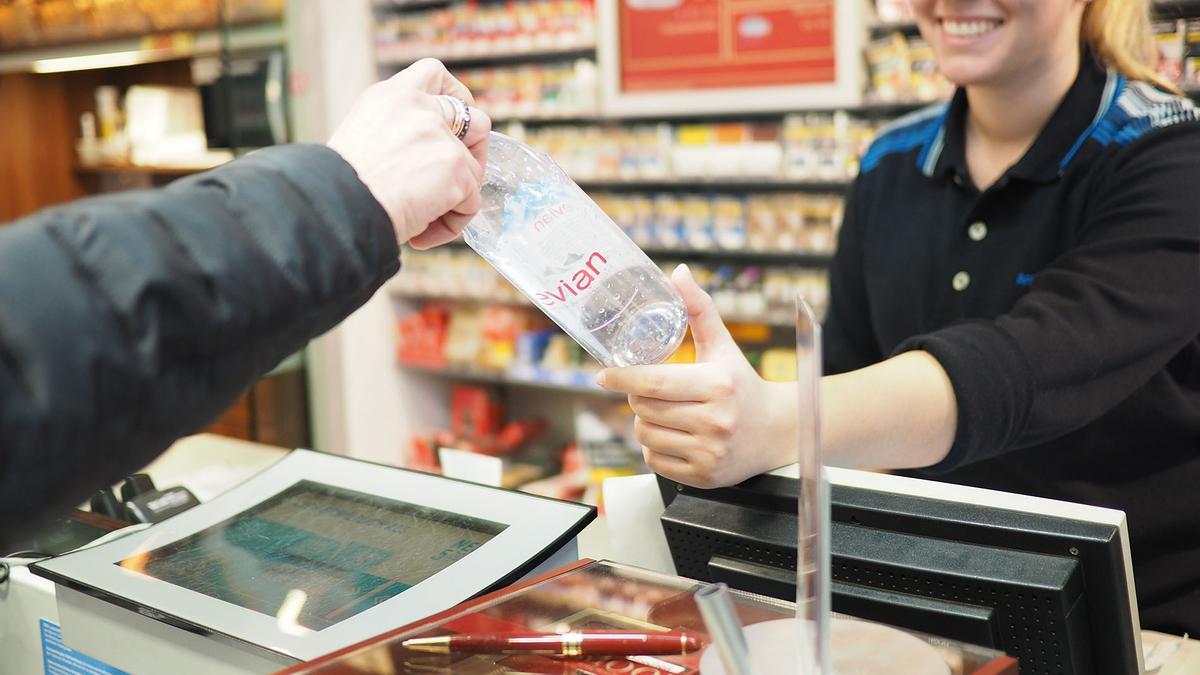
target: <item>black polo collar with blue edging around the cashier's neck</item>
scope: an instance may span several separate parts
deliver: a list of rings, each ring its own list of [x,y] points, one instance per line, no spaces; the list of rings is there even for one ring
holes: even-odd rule
[[[1033,141],[1025,155],[1008,169],[1009,178],[1033,183],[1056,180],[1074,157],[1079,147],[1111,108],[1120,94],[1122,78],[1106,72],[1088,53],[1082,54],[1079,74],[1067,90],[1058,108]],[[946,112],[941,156],[932,162],[929,175],[949,175],[959,181],[970,179],[966,161],[967,96],[959,88]]]

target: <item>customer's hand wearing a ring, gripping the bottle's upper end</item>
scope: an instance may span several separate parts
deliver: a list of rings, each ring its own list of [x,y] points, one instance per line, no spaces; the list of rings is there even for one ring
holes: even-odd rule
[[[443,94],[474,103],[440,61],[420,60],[362,92],[329,139],[391,217],[397,240],[416,249],[457,237],[481,203],[492,121],[472,106],[458,141]]]

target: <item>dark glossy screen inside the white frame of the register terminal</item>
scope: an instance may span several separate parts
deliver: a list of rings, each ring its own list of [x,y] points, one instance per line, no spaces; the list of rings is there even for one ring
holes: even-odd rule
[[[505,527],[301,480],[116,565],[320,631],[403,593]]]

